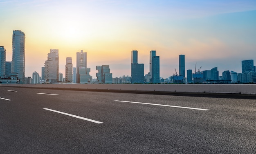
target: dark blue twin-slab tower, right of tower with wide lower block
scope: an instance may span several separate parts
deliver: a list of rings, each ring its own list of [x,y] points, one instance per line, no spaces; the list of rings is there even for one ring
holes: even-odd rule
[[[160,82],[159,56],[156,56],[156,51],[150,51],[149,56],[149,82],[158,84]]]

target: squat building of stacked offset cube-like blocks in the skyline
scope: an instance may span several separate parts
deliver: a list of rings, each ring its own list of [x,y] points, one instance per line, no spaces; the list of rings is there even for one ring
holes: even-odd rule
[[[97,79],[102,84],[112,84],[112,73],[110,73],[109,65],[96,66]]]

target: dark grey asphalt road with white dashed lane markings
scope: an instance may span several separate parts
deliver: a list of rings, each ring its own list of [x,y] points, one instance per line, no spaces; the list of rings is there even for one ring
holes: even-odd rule
[[[255,154],[256,100],[0,87],[0,153]]]

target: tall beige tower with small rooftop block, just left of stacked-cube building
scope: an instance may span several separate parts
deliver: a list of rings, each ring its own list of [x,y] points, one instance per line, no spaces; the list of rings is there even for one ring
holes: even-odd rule
[[[86,68],[87,53],[84,53],[83,50],[81,50],[81,52],[76,52],[76,83],[81,83],[80,76],[83,75],[85,77]]]

